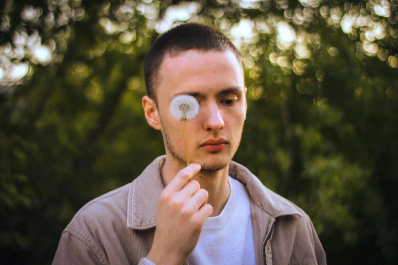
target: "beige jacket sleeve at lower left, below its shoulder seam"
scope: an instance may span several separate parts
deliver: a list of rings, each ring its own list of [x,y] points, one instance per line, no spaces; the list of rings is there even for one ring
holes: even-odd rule
[[[55,253],[53,265],[107,265],[105,255],[99,252],[99,249],[90,244],[86,237],[71,234],[69,231],[64,231],[58,244],[58,249]]]

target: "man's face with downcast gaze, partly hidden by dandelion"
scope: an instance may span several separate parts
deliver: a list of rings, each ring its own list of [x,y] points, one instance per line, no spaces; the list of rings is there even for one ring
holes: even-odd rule
[[[203,172],[225,168],[239,146],[247,110],[242,69],[233,52],[167,55],[158,74],[157,108],[167,159],[186,164],[182,121],[169,107],[175,96],[190,94],[200,109],[186,121],[189,157],[201,164]]]

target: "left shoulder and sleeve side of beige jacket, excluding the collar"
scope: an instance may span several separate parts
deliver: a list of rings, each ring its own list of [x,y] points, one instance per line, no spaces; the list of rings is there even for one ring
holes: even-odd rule
[[[59,262],[54,264],[67,258],[75,259],[74,263],[91,258],[102,264],[110,259],[117,264],[139,263],[149,252],[154,229],[137,236],[137,231],[128,225],[129,197],[136,180],[95,198],[75,214],[63,231],[57,250]]]

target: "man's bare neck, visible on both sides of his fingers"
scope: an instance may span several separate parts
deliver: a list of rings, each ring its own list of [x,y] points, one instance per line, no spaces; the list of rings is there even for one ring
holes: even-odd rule
[[[185,168],[185,165],[166,157],[166,161],[160,171],[164,186],[166,187],[183,168]],[[207,203],[213,207],[213,213],[210,217],[220,215],[228,201],[230,193],[228,168],[227,166],[222,170],[211,173],[200,171],[192,177],[193,180],[199,182],[200,188],[207,190],[209,194]]]

